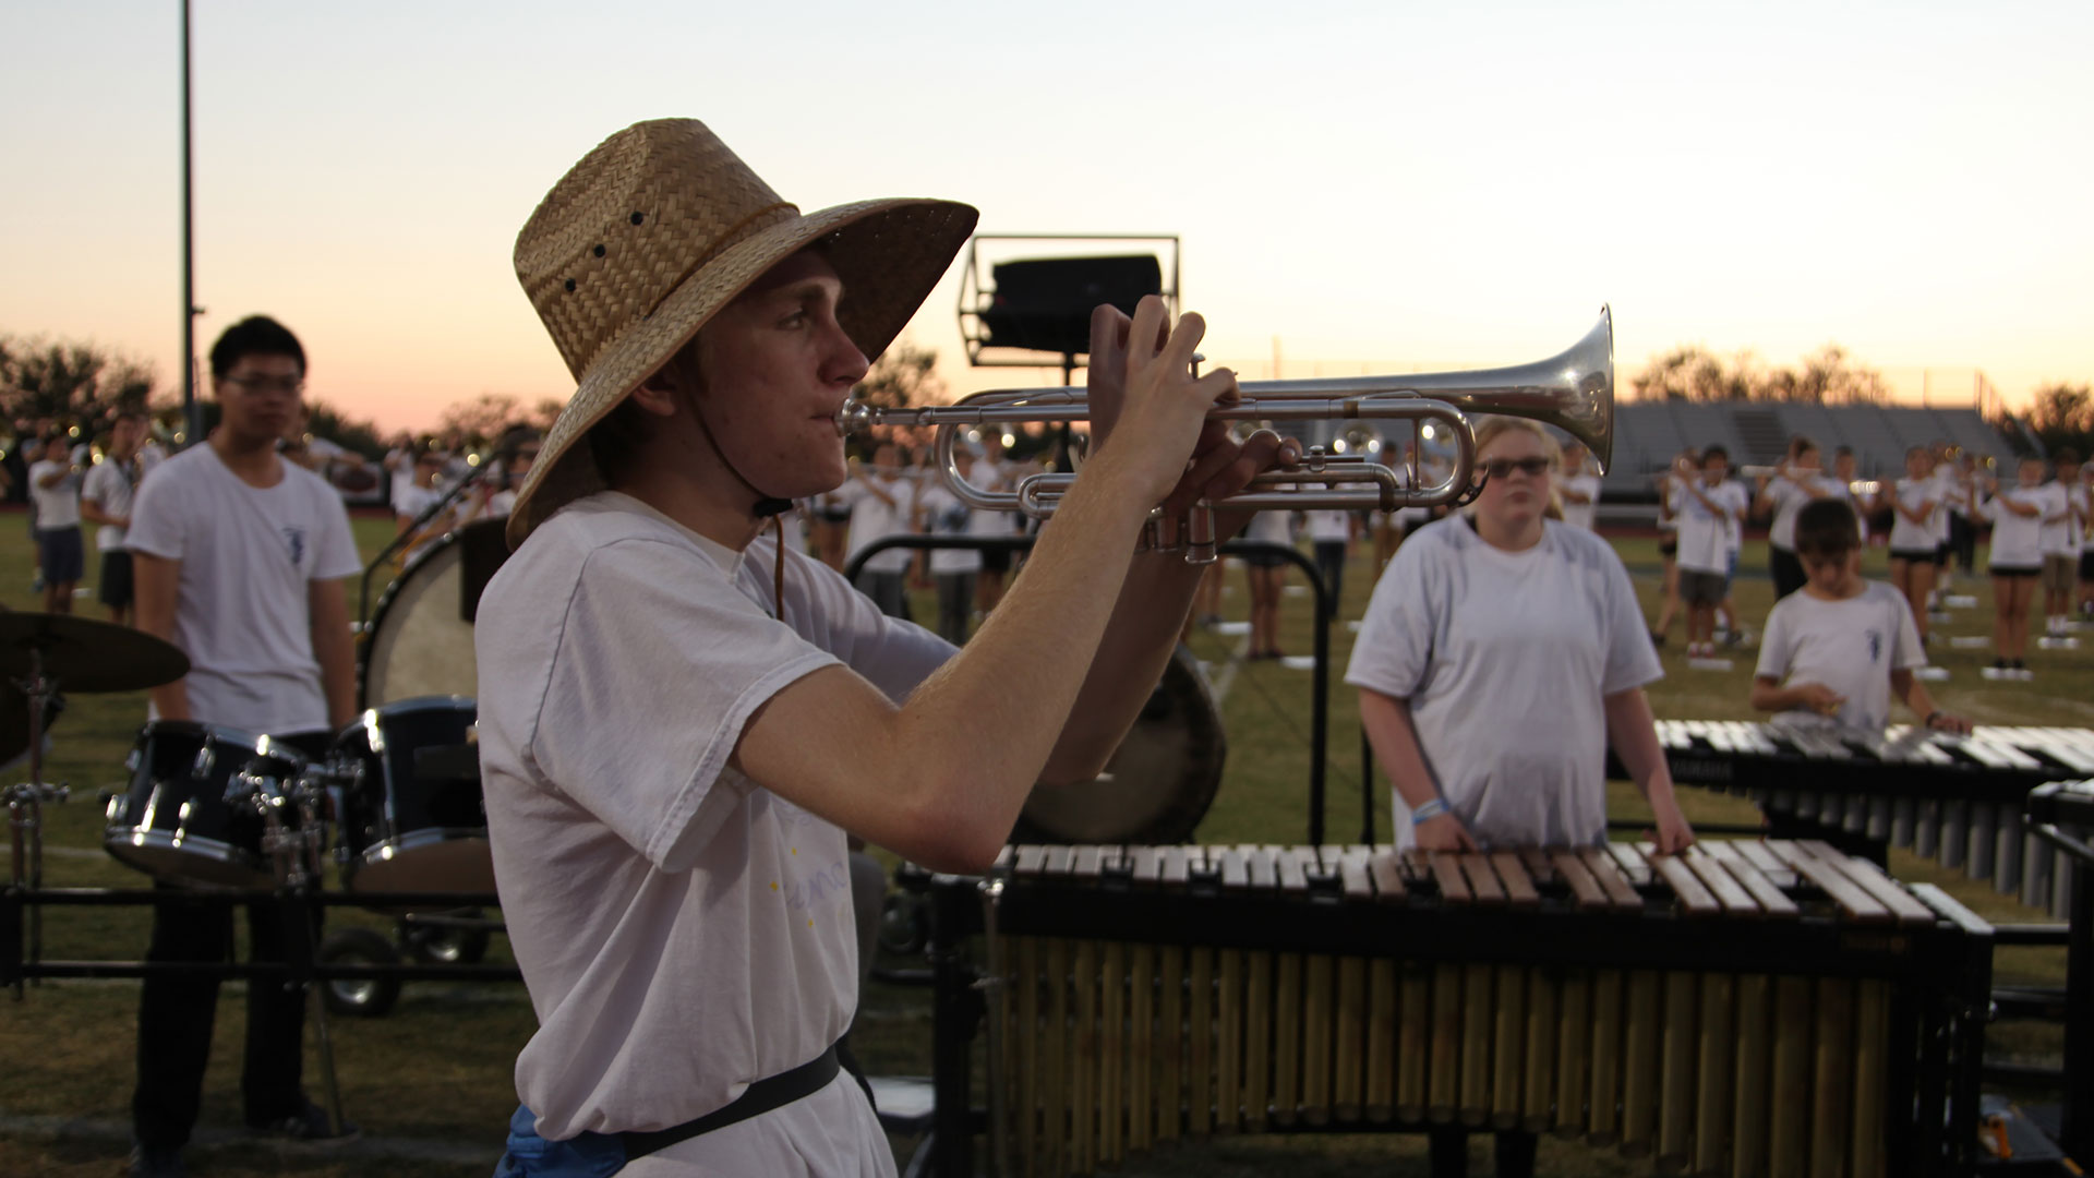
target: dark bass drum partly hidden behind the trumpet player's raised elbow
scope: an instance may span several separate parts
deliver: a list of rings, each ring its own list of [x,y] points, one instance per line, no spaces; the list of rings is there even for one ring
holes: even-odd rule
[[[1191,650],[1179,646],[1095,782],[1034,786],[1013,843],[1187,843],[1221,788],[1229,740]]]

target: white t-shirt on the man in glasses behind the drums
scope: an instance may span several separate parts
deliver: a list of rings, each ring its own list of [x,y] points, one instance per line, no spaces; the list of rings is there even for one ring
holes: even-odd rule
[[[354,576],[362,562],[335,488],[297,463],[281,465],[276,486],[249,486],[203,444],[138,484],[124,543],[182,562],[174,646],[188,654],[188,711],[205,723],[327,725],[310,583]]]

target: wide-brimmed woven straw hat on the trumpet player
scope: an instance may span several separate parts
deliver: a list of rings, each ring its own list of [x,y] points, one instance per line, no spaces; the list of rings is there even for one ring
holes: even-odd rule
[[[974,233],[953,201],[882,199],[802,214],[706,124],[651,119],[597,145],[517,235],[517,281],[576,390],[509,516],[509,547],[603,490],[591,426],[777,262],[821,243],[844,279],[838,321],[877,356]]]

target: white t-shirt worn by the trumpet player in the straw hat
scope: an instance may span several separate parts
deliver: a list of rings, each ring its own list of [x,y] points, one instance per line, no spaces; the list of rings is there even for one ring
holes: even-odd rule
[[[540,1136],[683,1124],[850,1025],[844,832],[729,757],[812,671],[842,662],[898,702],[953,646],[798,555],[773,620],[775,558],[768,532],[735,553],[605,490],[538,526],[480,602],[494,878],[538,1015],[515,1079]],[[647,1172],[892,1174],[848,1079],[743,1126]]]

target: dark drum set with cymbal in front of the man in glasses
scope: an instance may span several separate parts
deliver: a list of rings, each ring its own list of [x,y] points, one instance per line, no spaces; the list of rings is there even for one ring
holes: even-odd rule
[[[186,673],[180,650],[128,627],[0,612],[0,763],[27,761],[27,782],[0,788],[13,849],[4,891],[17,901],[54,895],[42,891],[42,807],[71,792],[44,782],[46,732],[65,706],[61,683],[138,692]],[[396,698],[339,732],[258,734],[157,719],[138,732],[124,769],[126,784],[101,797],[103,847],[159,885],[279,893],[398,920],[396,939],[341,926],[314,950],[312,964],[362,966],[362,977],[320,985],[337,1012],[383,1015],[400,977],[419,977],[413,968],[387,977],[402,956],[469,966],[500,931],[471,908],[494,893],[471,696]],[[27,945],[15,939],[15,954],[0,945],[17,966],[0,975],[21,985],[42,962],[42,903],[8,908],[13,918],[0,924]]]

